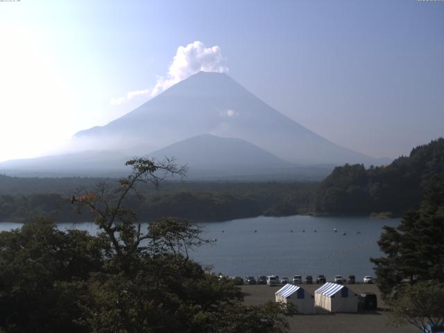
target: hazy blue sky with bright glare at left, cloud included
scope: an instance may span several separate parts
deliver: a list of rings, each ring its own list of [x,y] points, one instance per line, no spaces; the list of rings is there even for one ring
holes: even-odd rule
[[[374,157],[444,135],[444,1],[0,1],[0,46],[0,160],[199,69]]]

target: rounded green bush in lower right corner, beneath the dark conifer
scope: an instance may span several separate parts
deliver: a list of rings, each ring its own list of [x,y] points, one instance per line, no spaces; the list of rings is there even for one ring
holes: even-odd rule
[[[391,322],[398,326],[411,323],[422,330],[427,323],[444,322],[444,284],[421,281],[407,284],[390,302]]]

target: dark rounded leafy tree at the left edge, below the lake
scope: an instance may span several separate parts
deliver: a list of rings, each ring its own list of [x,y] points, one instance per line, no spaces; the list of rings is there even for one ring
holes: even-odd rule
[[[81,332],[76,288],[67,284],[103,266],[101,239],[86,232],[61,232],[36,220],[0,233],[0,327],[7,332]],[[64,284],[65,283],[65,284]],[[67,320],[69,318],[69,320]]]

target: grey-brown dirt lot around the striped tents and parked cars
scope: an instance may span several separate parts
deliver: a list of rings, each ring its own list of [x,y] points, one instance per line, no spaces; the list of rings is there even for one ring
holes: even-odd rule
[[[418,329],[413,325],[403,327],[393,327],[388,325],[388,309],[382,302],[381,295],[375,284],[346,284],[350,291],[355,293],[376,293],[378,309],[377,311],[364,311],[357,314],[330,314],[323,311],[316,311],[316,314],[301,314],[289,317],[290,332],[323,332],[323,333],[418,333]],[[267,300],[275,300],[275,291],[279,287],[268,287],[264,284],[244,285],[244,302],[246,305],[259,305]],[[303,284],[302,287],[314,293],[318,284]]]

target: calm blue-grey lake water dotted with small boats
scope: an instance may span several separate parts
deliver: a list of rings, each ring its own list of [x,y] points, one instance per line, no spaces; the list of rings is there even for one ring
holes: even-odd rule
[[[382,227],[399,223],[399,219],[314,216],[258,216],[199,223],[204,228],[203,238],[216,241],[203,244],[191,251],[190,256],[200,264],[213,266],[214,273],[233,276],[276,274],[292,278],[299,274],[316,278],[325,274],[327,280],[332,280],[336,274],[343,278],[353,274],[361,280],[364,275],[374,275],[369,258],[382,255],[377,246]],[[0,230],[20,226],[0,223]],[[58,223],[58,226],[61,230],[96,232],[94,223]]]

